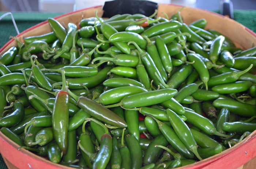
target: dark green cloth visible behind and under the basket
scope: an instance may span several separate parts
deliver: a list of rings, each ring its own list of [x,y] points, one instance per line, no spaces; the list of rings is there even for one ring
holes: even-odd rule
[[[214,11],[219,13],[219,11]],[[0,12],[0,16],[5,12]],[[19,32],[25,31],[26,29],[41,23],[48,19],[48,17],[56,17],[62,15],[63,13],[40,13],[40,12],[13,12],[15,22],[19,29]],[[234,20],[245,25],[253,32],[256,32],[256,10],[234,10]],[[0,20],[0,48],[7,43],[11,36],[16,36],[17,33],[15,31],[14,25],[11,20],[11,16],[8,15],[4,19]],[[0,168],[7,169],[3,158],[0,156]]]

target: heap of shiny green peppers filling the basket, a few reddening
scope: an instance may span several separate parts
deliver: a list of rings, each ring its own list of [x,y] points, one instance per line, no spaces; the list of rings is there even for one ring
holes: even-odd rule
[[[256,47],[207,21],[142,14],[48,19],[0,57],[0,131],[71,168],[169,169],[256,129]]]

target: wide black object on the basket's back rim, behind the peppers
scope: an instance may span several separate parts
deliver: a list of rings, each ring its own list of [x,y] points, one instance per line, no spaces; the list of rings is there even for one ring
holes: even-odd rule
[[[112,17],[117,14],[129,13],[131,15],[141,13],[150,16],[158,8],[158,4],[146,0],[113,0],[106,1],[103,6],[102,17]]]

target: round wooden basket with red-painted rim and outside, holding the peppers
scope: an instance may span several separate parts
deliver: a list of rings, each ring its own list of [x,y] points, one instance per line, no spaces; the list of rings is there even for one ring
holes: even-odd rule
[[[159,4],[158,16],[164,17],[162,12],[167,13],[168,16],[172,16],[174,13],[180,10],[181,6],[172,4]],[[70,12],[65,15],[55,17],[60,23],[64,22],[66,25],[69,22],[79,24],[84,18],[93,17],[94,12],[98,11],[98,16],[101,16],[102,6],[82,9],[75,12]],[[231,20],[225,16],[219,15],[214,12],[209,12],[202,9],[184,7],[181,11],[184,23],[192,23],[198,19],[206,19],[208,24],[206,29],[214,29],[219,31],[223,35],[230,38],[237,47],[242,49],[251,48],[252,44],[256,44],[256,34],[245,26]],[[42,35],[51,32],[48,21],[44,21],[31,27],[17,36],[17,38],[23,42],[23,36],[35,36]],[[0,55],[7,51],[10,47],[16,46],[15,40],[10,40],[0,49]],[[12,142],[9,138],[0,132],[0,153],[3,156],[8,168],[24,168],[24,169],[71,169],[69,167],[54,164],[45,158],[39,157],[25,149],[17,150],[19,146]],[[196,162],[188,166],[181,167],[179,169],[216,169],[216,168],[229,168],[229,169],[251,169],[256,166],[256,131],[254,131],[249,137],[245,138],[242,142],[238,143],[234,147],[223,151],[220,154],[216,154],[205,160]]]

